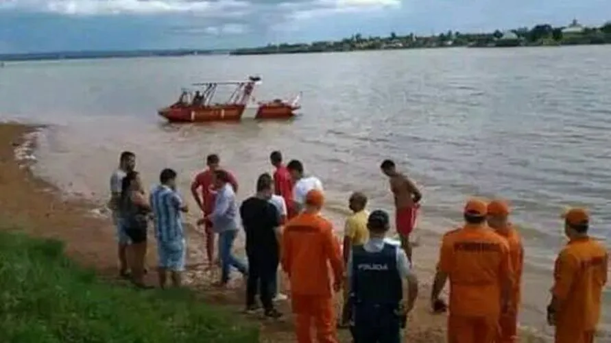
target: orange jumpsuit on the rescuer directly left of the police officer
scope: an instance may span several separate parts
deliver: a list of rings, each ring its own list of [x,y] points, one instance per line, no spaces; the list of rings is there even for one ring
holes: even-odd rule
[[[333,225],[320,214],[301,213],[283,231],[282,266],[291,282],[291,307],[296,314],[298,343],[311,343],[312,323],[318,342],[337,343],[333,281],[341,281],[344,262]]]

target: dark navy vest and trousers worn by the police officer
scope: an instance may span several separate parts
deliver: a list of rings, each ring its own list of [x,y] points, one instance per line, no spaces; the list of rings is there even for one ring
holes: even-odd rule
[[[403,285],[397,267],[397,251],[384,243],[381,251],[352,248],[350,296],[352,337],[355,343],[400,343]]]

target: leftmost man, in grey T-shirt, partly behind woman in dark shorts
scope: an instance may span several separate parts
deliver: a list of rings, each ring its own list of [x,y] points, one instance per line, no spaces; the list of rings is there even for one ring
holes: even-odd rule
[[[136,168],[136,155],[131,151],[123,151],[119,156],[119,168],[110,176],[110,201],[108,207],[112,211],[112,222],[117,228],[117,255],[119,257],[119,275],[130,277],[128,270],[127,249],[130,238],[125,233],[121,216],[119,215],[119,201],[121,199],[121,183],[123,177]]]

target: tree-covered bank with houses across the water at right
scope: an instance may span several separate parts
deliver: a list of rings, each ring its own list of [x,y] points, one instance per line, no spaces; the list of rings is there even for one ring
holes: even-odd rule
[[[576,23],[576,21],[574,22]],[[368,36],[360,33],[335,41],[318,41],[311,43],[268,44],[265,47],[237,49],[236,55],[265,53],[308,53],[331,51],[357,51],[379,49],[409,49],[426,47],[487,47],[501,39],[506,39],[508,32],[515,34],[509,38],[516,40],[515,46],[553,46],[553,45],[595,45],[611,44],[611,21],[600,27],[584,27],[579,34],[565,35],[562,27],[550,24],[537,24],[534,27],[519,27],[508,31],[499,29],[486,33],[462,33],[446,31],[431,36],[416,34],[398,35],[391,32],[388,36]]]

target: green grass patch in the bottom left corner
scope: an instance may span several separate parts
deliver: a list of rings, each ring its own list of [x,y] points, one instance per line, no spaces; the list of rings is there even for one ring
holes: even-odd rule
[[[254,343],[259,329],[188,290],[112,285],[61,242],[1,230],[0,342]]]

